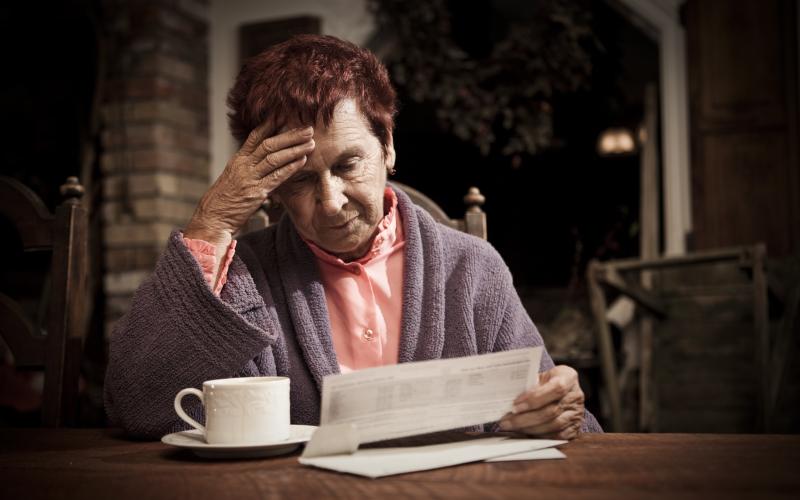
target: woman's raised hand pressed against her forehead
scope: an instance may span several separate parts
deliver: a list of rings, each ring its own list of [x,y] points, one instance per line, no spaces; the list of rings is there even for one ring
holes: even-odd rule
[[[184,236],[227,246],[267,196],[306,164],[314,150],[312,127],[272,135],[267,122],[253,130],[203,195]]]

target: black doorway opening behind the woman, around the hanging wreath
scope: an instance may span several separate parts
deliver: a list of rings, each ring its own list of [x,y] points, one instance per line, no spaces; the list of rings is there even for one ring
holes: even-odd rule
[[[483,26],[485,36],[464,42],[477,45],[473,51],[487,50],[497,27],[523,8],[523,2],[476,5],[483,8],[461,6],[451,17],[456,33]],[[443,134],[435,110],[400,88],[397,180],[430,195],[451,216],[463,211],[467,188],[478,186],[487,199],[489,241],[522,289],[566,287],[595,256],[638,254],[639,156],[601,157],[596,143],[608,127],[638,128],[644,87],[658,82],[658,46],[606,2],[587,2],[587,8],[600,45],[592,52],[591,83],[557,96],[556,141],[548,151],[483,156]]]

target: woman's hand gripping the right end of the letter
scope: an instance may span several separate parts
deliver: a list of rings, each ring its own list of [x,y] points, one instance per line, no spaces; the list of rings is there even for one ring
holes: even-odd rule
[[[500,420],[500,428],[543,438],[573,439],[584,418],[583,391],[578,372],[559,365],[539,374],[539,385],[514,400],[514,410]]]

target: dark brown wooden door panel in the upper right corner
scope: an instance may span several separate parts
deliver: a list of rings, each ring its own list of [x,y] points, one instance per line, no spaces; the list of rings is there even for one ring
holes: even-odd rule
[[[686,5],[690,248],[767,244],[800,253],[797,3]]]

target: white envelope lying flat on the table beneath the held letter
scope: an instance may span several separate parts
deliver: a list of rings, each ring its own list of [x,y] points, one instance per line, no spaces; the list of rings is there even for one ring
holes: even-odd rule
[[[372,448],[358,450],[353,454],[329,455],[323,457],[301,457],[300,463],[312,465],[337,472],[357,474],[370,478],[404,474],[423,470],[449,467],[469,462],[501,457],[506,460],[531,460],[523,457],[528,453],[536,453],[554,443],[564,441],[545,439],[507,439],[505,437],[489,437],[456,443],[416,446],[408,448]],[[554,450],[563,457],[558,450]],[[533,455],[528,455],[533,456]],[[504,458],[509,457],[509,458]],[[559,457],[559,458],[561,458]],[[544,458],[544,456],[540,457]],[[556,458],[556,457],[552,457]]]

